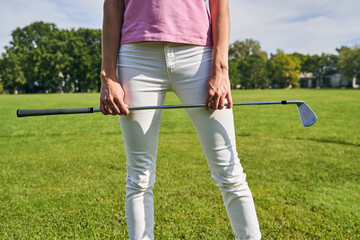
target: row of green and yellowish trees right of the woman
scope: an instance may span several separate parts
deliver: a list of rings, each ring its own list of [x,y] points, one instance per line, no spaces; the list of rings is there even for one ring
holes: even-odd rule
[[[320,80],[341,73],[346,80],[360,79],[360,45],[336,49],[337,55],[268,54],[252,39],[236,41],[229,48],[229,77],[233,88],[298,87],[300,73]]]

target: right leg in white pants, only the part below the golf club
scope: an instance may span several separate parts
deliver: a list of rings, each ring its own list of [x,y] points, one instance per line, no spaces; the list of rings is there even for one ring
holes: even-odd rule
[[[205,153],[211,176],[217,182],[237,239],[260,239],[251,191],[236,151],[231,110],[187,111]]]

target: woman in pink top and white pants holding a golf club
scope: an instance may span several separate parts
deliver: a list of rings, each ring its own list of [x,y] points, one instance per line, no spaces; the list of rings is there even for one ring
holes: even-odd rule
[[[163,105],[168,90],[183,104],[205,102],[205,109],[186,112],[221,190],[235,238],[261,238],[236,152],[228,1],[210,0],[209,6],[212,24],[203,0],[105,0],[100,109],[105,115],[121,115],[130,239],[154,239],[152,190],[162,110],[130,113],[127,107]]]

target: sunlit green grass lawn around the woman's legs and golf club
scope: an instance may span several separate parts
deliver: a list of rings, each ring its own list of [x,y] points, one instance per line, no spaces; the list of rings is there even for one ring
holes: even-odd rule
[[[263,239],[360,237],[360,91],[234,91],[237,148]],[[21,118],[17,108],[97,106],[99,94],[0,95],[0,239],[127,239],[118,118]],[[179,101],[168,93],[167,104]],[[155,185],[157,239],[233,239],[222,198],[184,110],[163,112]]]

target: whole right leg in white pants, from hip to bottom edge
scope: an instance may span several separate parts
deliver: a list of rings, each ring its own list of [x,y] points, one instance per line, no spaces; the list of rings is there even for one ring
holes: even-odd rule
[[[196,47],[192,53],[183,49],[176,52],[176,67],[171,74],[172,86],[183,104],[203,103],[206,98],[211,49]],[[223,196],[236,239],[260,239],[252,194],[236,151],[232,110],[209,112],[198,108],[186,112]]]

